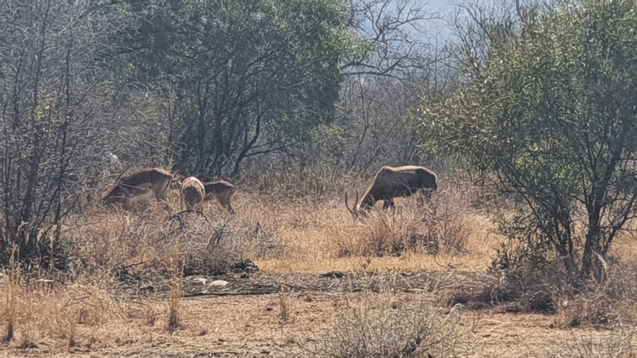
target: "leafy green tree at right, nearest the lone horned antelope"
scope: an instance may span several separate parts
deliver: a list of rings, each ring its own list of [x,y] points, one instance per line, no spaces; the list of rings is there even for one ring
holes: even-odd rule
[[[579,284],[601,277],[614,238],[629,229],[637,200],[636,29],[633,1],[535,8],[514,34],[493,42],[486,60],[466,57],[467,83],[422,105],[435,137],[430,151],[495,173],[517,198],[515,217],[500,221],[516,249],[501,252],[500,265],[553,258]]]

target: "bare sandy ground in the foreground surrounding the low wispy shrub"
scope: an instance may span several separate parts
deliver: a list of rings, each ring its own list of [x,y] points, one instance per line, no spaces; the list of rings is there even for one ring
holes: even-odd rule
[[[76,325],[74,345],[62,330],[31,328],[33,344],[16,340],[1,346],[7,357],[325,357],[323,337],[339,328],[341,313],[355,307],[395,310],[427,304],[440,321],[453,314],[459,336],[444,345],[453,353],[434,357],[615,357],[630,345],[631,328],[614,330],[559,329],[556,316],[480,311],[442,302],[454,287],[488,282],[471,272],[333,272],[272,274],[256,272],[222,277],[226,287],[210,286],[219,277],[190,277],[179,300],[180,328],[166,330],[168,291],[150,291],[148,282],[127,284],[96,320]],[[152,285],[151,285],[152,286]],[[277,289],[272,294],[257,294]],[[145,292],[145,293],[142,293]],[[250,293],[253,294],[250,294]],[[198,295],[198,296],[197,296]],[[226,295],[226,296],[217,296]],[[394,305],[395,303],[398,303]],[[104,306],[108,306],[105,308]],[[110,313],[109,313],[110,312]],[[115,313],[113,313],[115,312]],[[372,312],[372,311],[369,311]],[[86,313],[87,316],[91,312]],[[18,330],[18,337],[24,335]],[[628,344],[626,344],[628,343]],[[440,351],[437,351],[440,352]],[[423,351],[422,354],[426,354]],[[630,357],[630,355],[620,355]],[[426,357],[426,355],[425,355]]]

